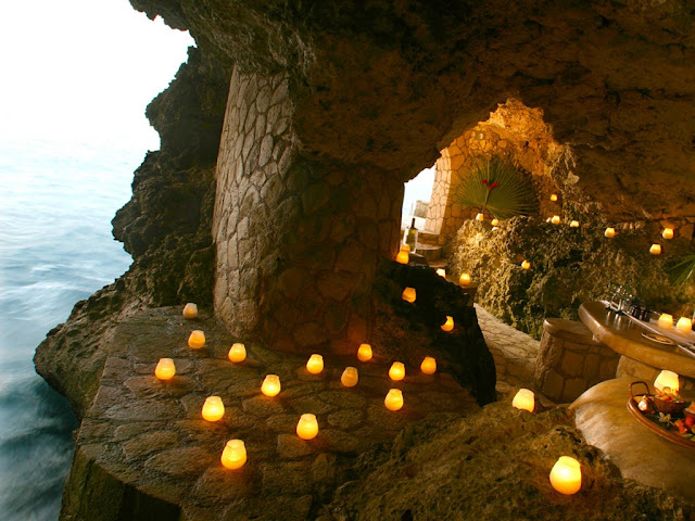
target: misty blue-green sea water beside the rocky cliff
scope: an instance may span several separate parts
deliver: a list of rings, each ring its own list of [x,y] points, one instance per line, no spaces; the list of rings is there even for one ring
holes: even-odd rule
[[[31,358],[130,256],[111,236],[143,150],[0,143],[0,519],[56,520],[77,422]]]

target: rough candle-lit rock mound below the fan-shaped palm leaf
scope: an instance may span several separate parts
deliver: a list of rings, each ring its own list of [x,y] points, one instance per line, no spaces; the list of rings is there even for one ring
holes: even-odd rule
[[[516,217],[492,231],[485,223],[468,220],[455,240],[451,271],[470,274],[478,283],[478,304],[536,339],[546,317],[578,320],[579,306],[606,298],[610,282],[634,288],[653,310],[693,313],[695,291],[690,284],[669,282],[668,258],[649,254],[642,231],[621,230],[607,240],[604,229],[589,226],[580,232]],[[673,242],[670,247],[674,258],[693,262],[687,244]],[[528,271],[520,267],[525,258],[531,263]]]

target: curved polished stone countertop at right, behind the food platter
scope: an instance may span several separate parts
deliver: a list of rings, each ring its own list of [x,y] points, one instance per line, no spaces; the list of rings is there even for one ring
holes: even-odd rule
[[[658,373],[669,369],[677,373],[695,379],[695,358],[683,354],[675,345],[665,345],[643,336],[645,329],[640,328],[629,317],[617,316],[608,312],[603,302],[594,301],[581,305],[579,316],[591,332],[604,344],[620,353],[629,360],[621,360],[620,366],[637,369],[623,371],[635,377],[650,379],[639,370],[640,365],[649,366]],[[695,334],[695,333],[691,333]],[[620,374],[620,367],[618,373]]]

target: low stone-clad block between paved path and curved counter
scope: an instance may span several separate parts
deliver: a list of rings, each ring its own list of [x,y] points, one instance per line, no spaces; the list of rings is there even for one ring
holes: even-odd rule
[[[619,358],[582,322],[546,318],[535,359],[536,389],[557,403],[572,402],[596,383],[615,378]]]

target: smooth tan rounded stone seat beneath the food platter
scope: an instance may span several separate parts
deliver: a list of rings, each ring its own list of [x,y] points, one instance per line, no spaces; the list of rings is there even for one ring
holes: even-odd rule
[[[601,382],[570,406],[586,443],[601,448],[623,478],[695,503],[695,448],[677,445],[640,424],[628,410],[634,378]]]

